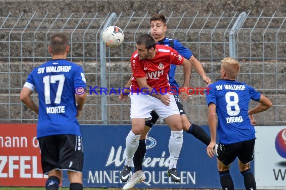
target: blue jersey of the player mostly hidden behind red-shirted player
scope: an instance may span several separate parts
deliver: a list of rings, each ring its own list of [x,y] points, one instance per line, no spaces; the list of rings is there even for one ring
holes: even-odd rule
[[[169,46],[173,49],[175,49],[181,56],[189,60],[191,56],[193,55],[192,51],[190,51],[188,48],[184,47],[178,40],[175,39],[169,39],[169,38],[164,38],[158,41],[157,44],[160,45],[166,45]],[[176,65],[171,64],[170,65],[170,70],[169,70],[169,84],[172,89],[176,89],[178,92],[179,85],[175,80],[175,71],[176,71]],[[175,86],[175,87],[174,87]]]

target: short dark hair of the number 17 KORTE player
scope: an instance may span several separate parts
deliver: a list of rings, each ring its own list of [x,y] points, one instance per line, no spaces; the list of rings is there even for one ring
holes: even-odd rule
[[[64,33],[54,33],[50,37],[49,46],[52,49],[53,54],[63,54],[67,48],[68,38]]]

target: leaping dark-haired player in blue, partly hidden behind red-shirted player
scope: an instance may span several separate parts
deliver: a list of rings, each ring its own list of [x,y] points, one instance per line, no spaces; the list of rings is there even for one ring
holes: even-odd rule
[[[163,14],[154,14],[150,18],[150,34],[153,36],[157,44],[160,45],[166,45],[169,47],[172,47],[175,49],[181,56],[183,56],[185,59],[190,61],[190,64],[194,67],[196,72],[202,77],[203,81],[209,85],[211,83],[211,80],[206,76],[204,69],[201,65],[201,63],[195,58],[193,55],[192,51],[190,51],[188,48],[184,47],[178,40],[176,39],[169,39],[165,36],[165,33],[167,31],[167,24],[166,24],[166,18],[164,17]],[[209,135],[204,131],[204,129],[194,123],[191,123],[186,116],[186,112],[183,109],[183,105],[180,102],[179,99],[179,94],[178,94],[178,89],[179,85],[175,80],[175,70],[176,70],[176,65],[171,64],[171,68],[169,71],[169,84],[172,90],[176,90],[177,94],[174,94],[174,98],[176,100],[177,106],[180,111],[181,115],[181,120],[182,120],[182,127],[183,130],[189,134],[192,134],[194,137],[202,141],[204,144],[208,145],[210,143],[210,137]],[[126,84],[126,88],[129,88],[131,86],[131,79],[128,81]],[[124,93],[127,94],[129,91],[124,90]],[[128,95],[125,95],[123,93],[120,94],[120,99],[121,100],[126,100]],[[146,143],[145,139],[147,136],[147,133],[151,129],[151,127],[156,123],[158,120],[159,116],[156,114],[155,111],[152,111],[151,113],[152,119],[148,120],[145,122],[145,129],[144,133],[141,134],[140,136],[140,141],[139,141],[139,147],[137,151],[135,152],[134,155],[134,174],[133,176],[129,179],[130,177],[130,172],[131,172],[131,167],[128,166],[125,162],[125,165],[120,173],[120,179],[123,182],[127,182],[127,184],[123,187],[123,189],[130,189],[132,188],[135,184],[139,182],[139,177],[137,177],[137,173],[142,172],[142,164],[144,160],[144,156],[146,153]],[[216,146],[214,146],[215,148]],[[177,173],[176,168],[172,168],[169,166],[169,169],[167,171],[168,176],[172,178],[173,181],[179,182],[181,181],[180,174]],[[129,180],[128,180],[129,179]]]

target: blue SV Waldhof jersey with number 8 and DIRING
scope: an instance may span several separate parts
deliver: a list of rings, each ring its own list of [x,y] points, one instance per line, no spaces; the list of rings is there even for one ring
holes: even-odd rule
[[[259,101],[261,93],[235,80],[220,80],[209,85],[209,88],[206,100],[208,105],[216,105],[219,141],[230,144],[255,138],[255,129],[248,116],[248,105],[250,99]]]

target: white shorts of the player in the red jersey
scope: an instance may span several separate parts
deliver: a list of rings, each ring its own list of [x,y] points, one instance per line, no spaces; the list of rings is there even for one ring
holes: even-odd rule
[[[167,94],[170,97],[170,105],[164,105],[159,99],[150,95],[134,93],[130,94],[131,98],[131,114],[132,118],[145,118],[150,120],[151,111],[155,111],[160,117],[161,121],[170,115],[180,114],[175,98],[171,94]]]

